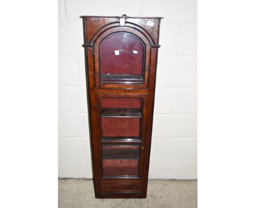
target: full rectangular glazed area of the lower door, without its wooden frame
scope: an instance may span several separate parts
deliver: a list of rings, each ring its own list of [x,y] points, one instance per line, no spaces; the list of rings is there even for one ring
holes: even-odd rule
[[[102,97],[103,176],[138,177],[141,145],[141,98]]]

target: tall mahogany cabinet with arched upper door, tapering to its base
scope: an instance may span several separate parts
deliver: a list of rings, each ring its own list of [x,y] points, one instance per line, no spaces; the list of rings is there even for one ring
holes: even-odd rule
[[[161,17],[81,16],[96,198],[146,198]]]

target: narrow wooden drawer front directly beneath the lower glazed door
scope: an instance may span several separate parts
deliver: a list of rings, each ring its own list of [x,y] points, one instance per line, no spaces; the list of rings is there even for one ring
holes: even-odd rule
[[[141,191],[141,183],[122,183],[122,184],[101,184],[102,192],[138,192]]]

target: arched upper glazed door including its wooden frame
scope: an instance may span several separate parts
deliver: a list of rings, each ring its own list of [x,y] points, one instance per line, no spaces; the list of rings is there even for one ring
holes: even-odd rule
[[[94,46],[96,88],[147,88],[150,44],[132,28],[110,28]]]

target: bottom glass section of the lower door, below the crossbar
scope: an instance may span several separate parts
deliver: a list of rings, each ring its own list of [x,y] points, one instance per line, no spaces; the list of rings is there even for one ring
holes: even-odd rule
[[[103,175],[138,176],[139,146],[103,146]]]

